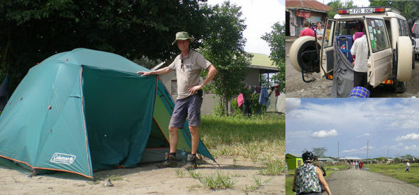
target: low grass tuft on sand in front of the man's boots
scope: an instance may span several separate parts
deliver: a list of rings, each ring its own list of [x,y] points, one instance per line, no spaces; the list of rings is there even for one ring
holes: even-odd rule
[[[216,173],[206,175],[198,179],[208,189],[228,189],[232,188],[235,182],[230,179],[229,175],[217,171]]]

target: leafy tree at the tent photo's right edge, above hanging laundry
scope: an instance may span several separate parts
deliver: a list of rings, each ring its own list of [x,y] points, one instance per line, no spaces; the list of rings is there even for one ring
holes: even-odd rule
[[[272,79],[275,84],[279,85],[279,91],[285,90],[285,24],[275,23],[272,31],[261,37],[270,46],[270,59],[272,64],[277,66],[279,73],[274,75]]]

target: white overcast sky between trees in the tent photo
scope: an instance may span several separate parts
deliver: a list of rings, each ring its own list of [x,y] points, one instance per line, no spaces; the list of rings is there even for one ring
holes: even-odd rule
[[[214,6],[224,0],[208,0]],[[244,46],[246,52],[270,55],[270,47],[260,36],[272,31],[276,22],[285,22],[285,0],[230,0],[230,3],[242,7],[242,17],[245,18],[247,29],[243,36],[247,39]]]

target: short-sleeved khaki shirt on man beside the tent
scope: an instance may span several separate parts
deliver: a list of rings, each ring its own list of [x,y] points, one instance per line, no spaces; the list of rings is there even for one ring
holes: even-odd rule
[[[194,50],[189,50],[186,57],[182,57],[181,53],[175,58],[169,68],[176,72],[177,99],[185,99],[193,95],[188,92],[188,88],[200,85],[200,71],[207,69],[210,65],[211,62]]]

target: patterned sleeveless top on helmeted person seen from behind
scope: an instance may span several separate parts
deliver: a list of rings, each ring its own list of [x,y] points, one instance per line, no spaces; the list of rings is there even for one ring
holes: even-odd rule
[[[297,194],[321,192],[320,181],[313,164],[303,164],[297,168],[295,177],[295,189]]]

